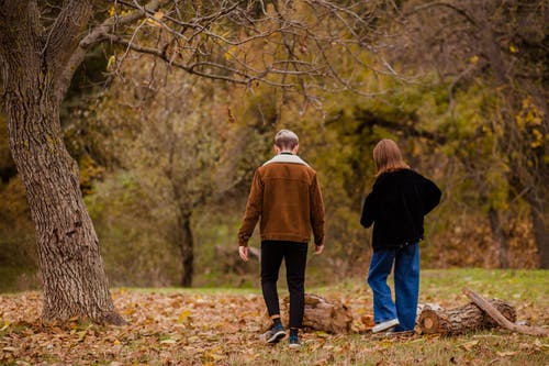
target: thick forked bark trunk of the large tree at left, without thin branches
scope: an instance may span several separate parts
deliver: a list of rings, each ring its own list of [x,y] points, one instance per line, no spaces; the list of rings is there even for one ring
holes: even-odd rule
[[[43,319],[87,317],[122,324],[80,192],[78,166],[65,147],[59,122],[66,85],[58,80],[67,76],[63,65],[78,45],[75,34],[81,33],[91,5],[67,2],[46,38],[35,2],[0,3],[0,65],[10,148],[36,228]]]

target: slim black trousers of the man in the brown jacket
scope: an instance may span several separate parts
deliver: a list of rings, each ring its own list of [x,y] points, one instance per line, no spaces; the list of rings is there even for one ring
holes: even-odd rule
[[[261,290],[269,317],[280,314],[277,281],[285,263],[285,279],[290,291],[290,328],[301,328],[305,310],[305,265],[307,243],[261,242]]]

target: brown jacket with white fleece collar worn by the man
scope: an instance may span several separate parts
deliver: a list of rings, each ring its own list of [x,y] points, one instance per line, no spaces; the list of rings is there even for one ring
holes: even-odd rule
[[[238,245],[248,245],[259,218],[261,241],[306,243],[312,228],[315,245],[324,245],[324,202],[316,171],[289,153],[259,167],[238,231]]]

